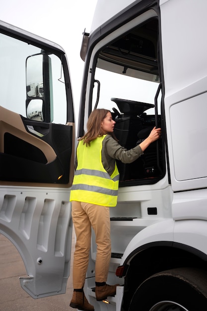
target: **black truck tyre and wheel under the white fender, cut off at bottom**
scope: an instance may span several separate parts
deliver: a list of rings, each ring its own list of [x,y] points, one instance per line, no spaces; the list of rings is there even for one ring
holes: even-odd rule
[[[129,311],[207,311],[207,273],[194,268],[162,271],[136,290]]]

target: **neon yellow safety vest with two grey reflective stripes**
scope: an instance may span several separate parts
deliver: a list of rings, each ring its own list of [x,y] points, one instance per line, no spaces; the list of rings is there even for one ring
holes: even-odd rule
[[[86,202],[102,206],[116,206],[119,187],[119,171],[110,176],[101,161],[102,142],[106,135],[96,138],[90,146],[80,141],[77,147],[75,170],[70,201]]]

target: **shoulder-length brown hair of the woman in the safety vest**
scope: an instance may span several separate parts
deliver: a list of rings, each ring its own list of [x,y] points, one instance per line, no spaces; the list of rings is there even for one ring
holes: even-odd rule
[[[108,112],[110,112],[110,110],[107,109],[93,110],[88,118],[87,132],[79,139],[79,141],[83,140],[83,144],[86,144],[86,146],[90,146],[91,141],[93,141],[97,137],[103,136],[104,132],[101,127],[101,122],[103,122],[103,120],[106,118]],[[117,140],[113,133],[112,136],[115,140]]]

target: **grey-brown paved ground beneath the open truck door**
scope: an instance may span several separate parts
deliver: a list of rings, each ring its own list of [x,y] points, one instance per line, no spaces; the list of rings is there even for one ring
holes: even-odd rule
[[[71,266],[75,236],[72,235]],[[19,277],[27,277],[26,269],[15,246],[0,234],[0,311],[75,311],[69,307],[72,297],[72,267],[66,294],[33,299],[20,286]]]

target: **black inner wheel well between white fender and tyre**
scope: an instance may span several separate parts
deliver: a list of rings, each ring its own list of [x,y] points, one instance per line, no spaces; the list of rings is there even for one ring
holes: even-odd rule
[[[125,276],[123,309],[128,310],[138,286],[152,275],[180,267],[201,268],[207,272],[207,254],[191,246],[157,241],[135,249]]]

